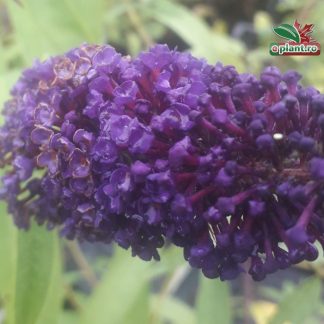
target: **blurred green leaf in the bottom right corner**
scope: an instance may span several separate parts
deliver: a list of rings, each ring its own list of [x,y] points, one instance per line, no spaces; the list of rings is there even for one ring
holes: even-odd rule
[[[279,303],[278,311],[270,324],[307,323],[307,318],[313,316],[319,308],[320,294],[320,279],[306,279]]]

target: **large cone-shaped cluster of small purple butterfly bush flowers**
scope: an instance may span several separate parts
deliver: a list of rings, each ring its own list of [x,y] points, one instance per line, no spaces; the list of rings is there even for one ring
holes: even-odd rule
[[[82,45],[24,71],[0,129],[1,197],[69,239],[255,280],[324,243],[324,96],[157,45]]]

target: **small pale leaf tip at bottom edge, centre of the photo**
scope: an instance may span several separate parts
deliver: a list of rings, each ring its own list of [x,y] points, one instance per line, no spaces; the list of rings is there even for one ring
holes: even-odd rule
[[[195,324],[195,312],[190,306],[178,298],[167,296],[161,301],[160,295],[151,297],[152,309],[158,310],[152,323]],[[198,323],[198,322],[197,322]],[[203,322],[201,322],[203,323]],[[205,324],[205,323],[204,323]]]

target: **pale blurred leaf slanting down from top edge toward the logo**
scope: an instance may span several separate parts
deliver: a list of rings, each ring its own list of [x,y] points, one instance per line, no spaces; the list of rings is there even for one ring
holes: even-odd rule
[[[208,25],[185,6],[169,0],[149,1],[141,12],[173,30],[188,45],[192,54],[202,56],[214,63],[243,67],[244,47],[239,41],[213,32]]]

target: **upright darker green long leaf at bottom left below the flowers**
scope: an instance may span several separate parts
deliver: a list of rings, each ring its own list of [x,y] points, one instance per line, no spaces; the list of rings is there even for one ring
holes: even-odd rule
[[[18,231],[15,255],[8,323],[55,323],[61,286],[56,233],[36,224]]]

